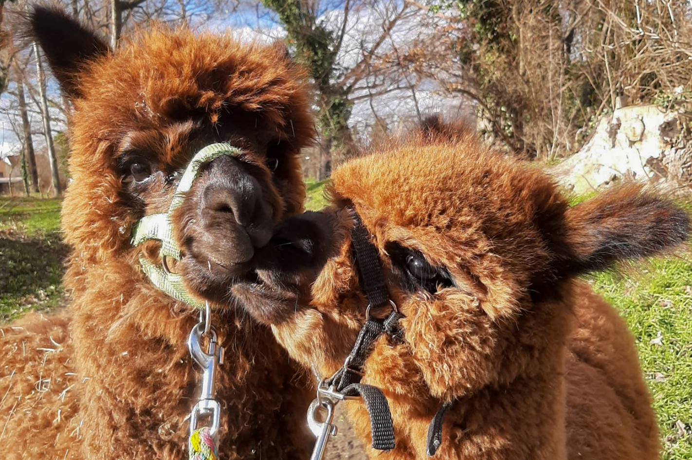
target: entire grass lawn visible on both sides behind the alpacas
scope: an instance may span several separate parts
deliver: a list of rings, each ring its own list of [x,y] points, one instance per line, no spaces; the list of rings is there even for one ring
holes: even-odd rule
[[[307,181],[307,208],[326,200]],[[573,203],[581,201],[581,197]],[[0,198],[0,319],[64,304],[60,201]],[[659,416],[665,460],[692,460],[692,262],[652,259],[586,277],[626,318]]]

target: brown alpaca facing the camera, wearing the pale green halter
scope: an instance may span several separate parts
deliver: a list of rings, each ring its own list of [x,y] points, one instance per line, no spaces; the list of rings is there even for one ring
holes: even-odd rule
[[[72,293],[69,313],[3,328],[6,458],[185,457],[201,380],[185,344],[197,311],[143,275],[138,257],[160,262],[158,243],[130,240],[138,219],[167,210],[194,153],[221,141],[241,154],[203,167],[173,222],[174,270],[212,304],[226,349],[220,458],[306,457],[304,373],[228,293],[274,223],[302,210],[298,152],[313,138],[302,71],[282,46],[225,35],[161,27],[111,53],[45,8],[28,29],[74,106],[62,215]]]

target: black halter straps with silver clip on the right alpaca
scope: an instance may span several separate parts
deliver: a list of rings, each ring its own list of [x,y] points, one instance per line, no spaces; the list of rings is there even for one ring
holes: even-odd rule
[[[401,314],[397,311],[397,305],[390,299],[385,286],[379,252],[370,242],[370,235],[358,214],[355,214],[355,220],[356,226],[351,232],[351,237],[361,288],[369,302],[365,310],[367,319],[343,366],[331,378],[320,381],[317,397],[308,408],[308,426],[317,436],[311,460],[321,460],[327,448],[327,441],[331,436],[336,436],[336,425],[332,421],[334,408],[340,401],[362,400],[365,403],[365,408],[370,415],[372,448],[389,451],[395,446],[394,424],[387,398],[379,388],[363,385],[361,378],[363,365],[376,339],[381,334],[387,333],[392,340],[399,340]],[[392,312],[386,318],[379,319],[370,315],[371,309],[387,305],[392,306]],[[320,412],[326,412],[324,421],[318,421]]]

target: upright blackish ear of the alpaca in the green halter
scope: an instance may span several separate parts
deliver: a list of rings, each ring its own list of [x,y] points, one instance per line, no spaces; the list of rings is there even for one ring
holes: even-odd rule
[[[24,33],[44,50],[60,87],[70,98],[82,96],[78,75],[84,65],[110,51],[92,30],[55,8],[35,7],[28,13]]]

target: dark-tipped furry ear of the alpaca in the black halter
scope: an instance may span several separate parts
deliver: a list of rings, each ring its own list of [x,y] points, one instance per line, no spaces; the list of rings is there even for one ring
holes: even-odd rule
[[[562,276],[600,270],[673,248],[689,236],[690,217],[670,199],[625,185],[565,212],[557,272]]]

